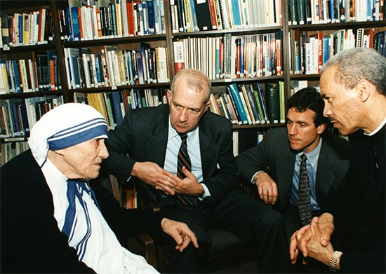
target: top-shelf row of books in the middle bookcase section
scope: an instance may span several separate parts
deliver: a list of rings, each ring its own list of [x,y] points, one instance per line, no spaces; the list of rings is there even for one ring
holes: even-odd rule
[[[172,32],[279,26],[281,12],[275,0],[171,0]]]

